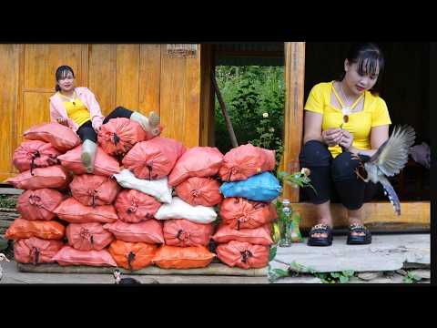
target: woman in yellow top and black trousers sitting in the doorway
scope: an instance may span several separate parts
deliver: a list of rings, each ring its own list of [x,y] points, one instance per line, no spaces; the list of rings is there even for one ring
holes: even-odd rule
[[[390,115],[375,90],[383,67],[378,46],[352,45],[342,77],[310,91],[300,152],[300,167],[310,169],[317,190],[305,189],[319,219],[311,228],[310,246],[332,243],[330,201],[336,198],[348,210],[348,244],[371,243],[371,233],[362,225],[361,206],[371,200],[377,186],[358,179],[355,169],[359,161],[352,159],[352,154],[371,156],[389,138]]]

